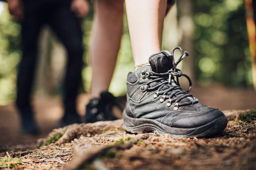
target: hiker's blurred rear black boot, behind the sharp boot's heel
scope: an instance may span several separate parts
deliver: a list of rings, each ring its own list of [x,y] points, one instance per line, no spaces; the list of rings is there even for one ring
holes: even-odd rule
[[[93,98],[86,105],[85,122],[93,123],[104,120],[116,120],[112,112],[113,106],[118,106],[116,97],[108,91],[102,92],[100,98]]]

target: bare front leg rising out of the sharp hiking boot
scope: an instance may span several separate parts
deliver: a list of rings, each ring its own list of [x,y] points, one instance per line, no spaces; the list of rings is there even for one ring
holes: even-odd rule
[[[135,65],[161,51],[167,0],[125,0]]]

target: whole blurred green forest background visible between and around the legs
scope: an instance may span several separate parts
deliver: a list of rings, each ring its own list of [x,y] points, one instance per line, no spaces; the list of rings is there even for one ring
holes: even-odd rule
[[[83,21],[84,67],[83,88],[90,90],[91,67],[89,46],[93,7]],[[230,87],[252,89],[251,57],[247,37],[245,8],[242,0],[177,1],[165,18],[163,49],[180,45],[190,55],[183,60],[183,73],[193,84],[205,86],[217,82]],[[66,51],[49,27],[42,30],[34,94],[61,94],[65,73]],[[99,47],[100,49],[100,47]],[[16,97],[16,74],[20,62],[20,25],[0,3],[0,105]],[[103,57],[103,56],[102,56]],[[126,75],[134,70],[127,19],[110,92],[125,95]]]

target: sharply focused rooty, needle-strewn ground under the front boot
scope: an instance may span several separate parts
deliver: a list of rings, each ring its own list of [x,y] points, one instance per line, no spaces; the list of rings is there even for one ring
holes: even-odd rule
[[[226,111],[216,136],[175,139],[128,134],[123,120],[54,129],[37,143],[10,145],[0,167],[13,169],[255,169],[256,110]]]

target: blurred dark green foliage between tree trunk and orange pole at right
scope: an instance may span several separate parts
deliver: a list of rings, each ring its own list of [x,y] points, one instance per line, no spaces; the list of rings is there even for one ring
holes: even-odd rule
[[[197,0],[191,4],[197,79],[252,87],[244,1]]]

